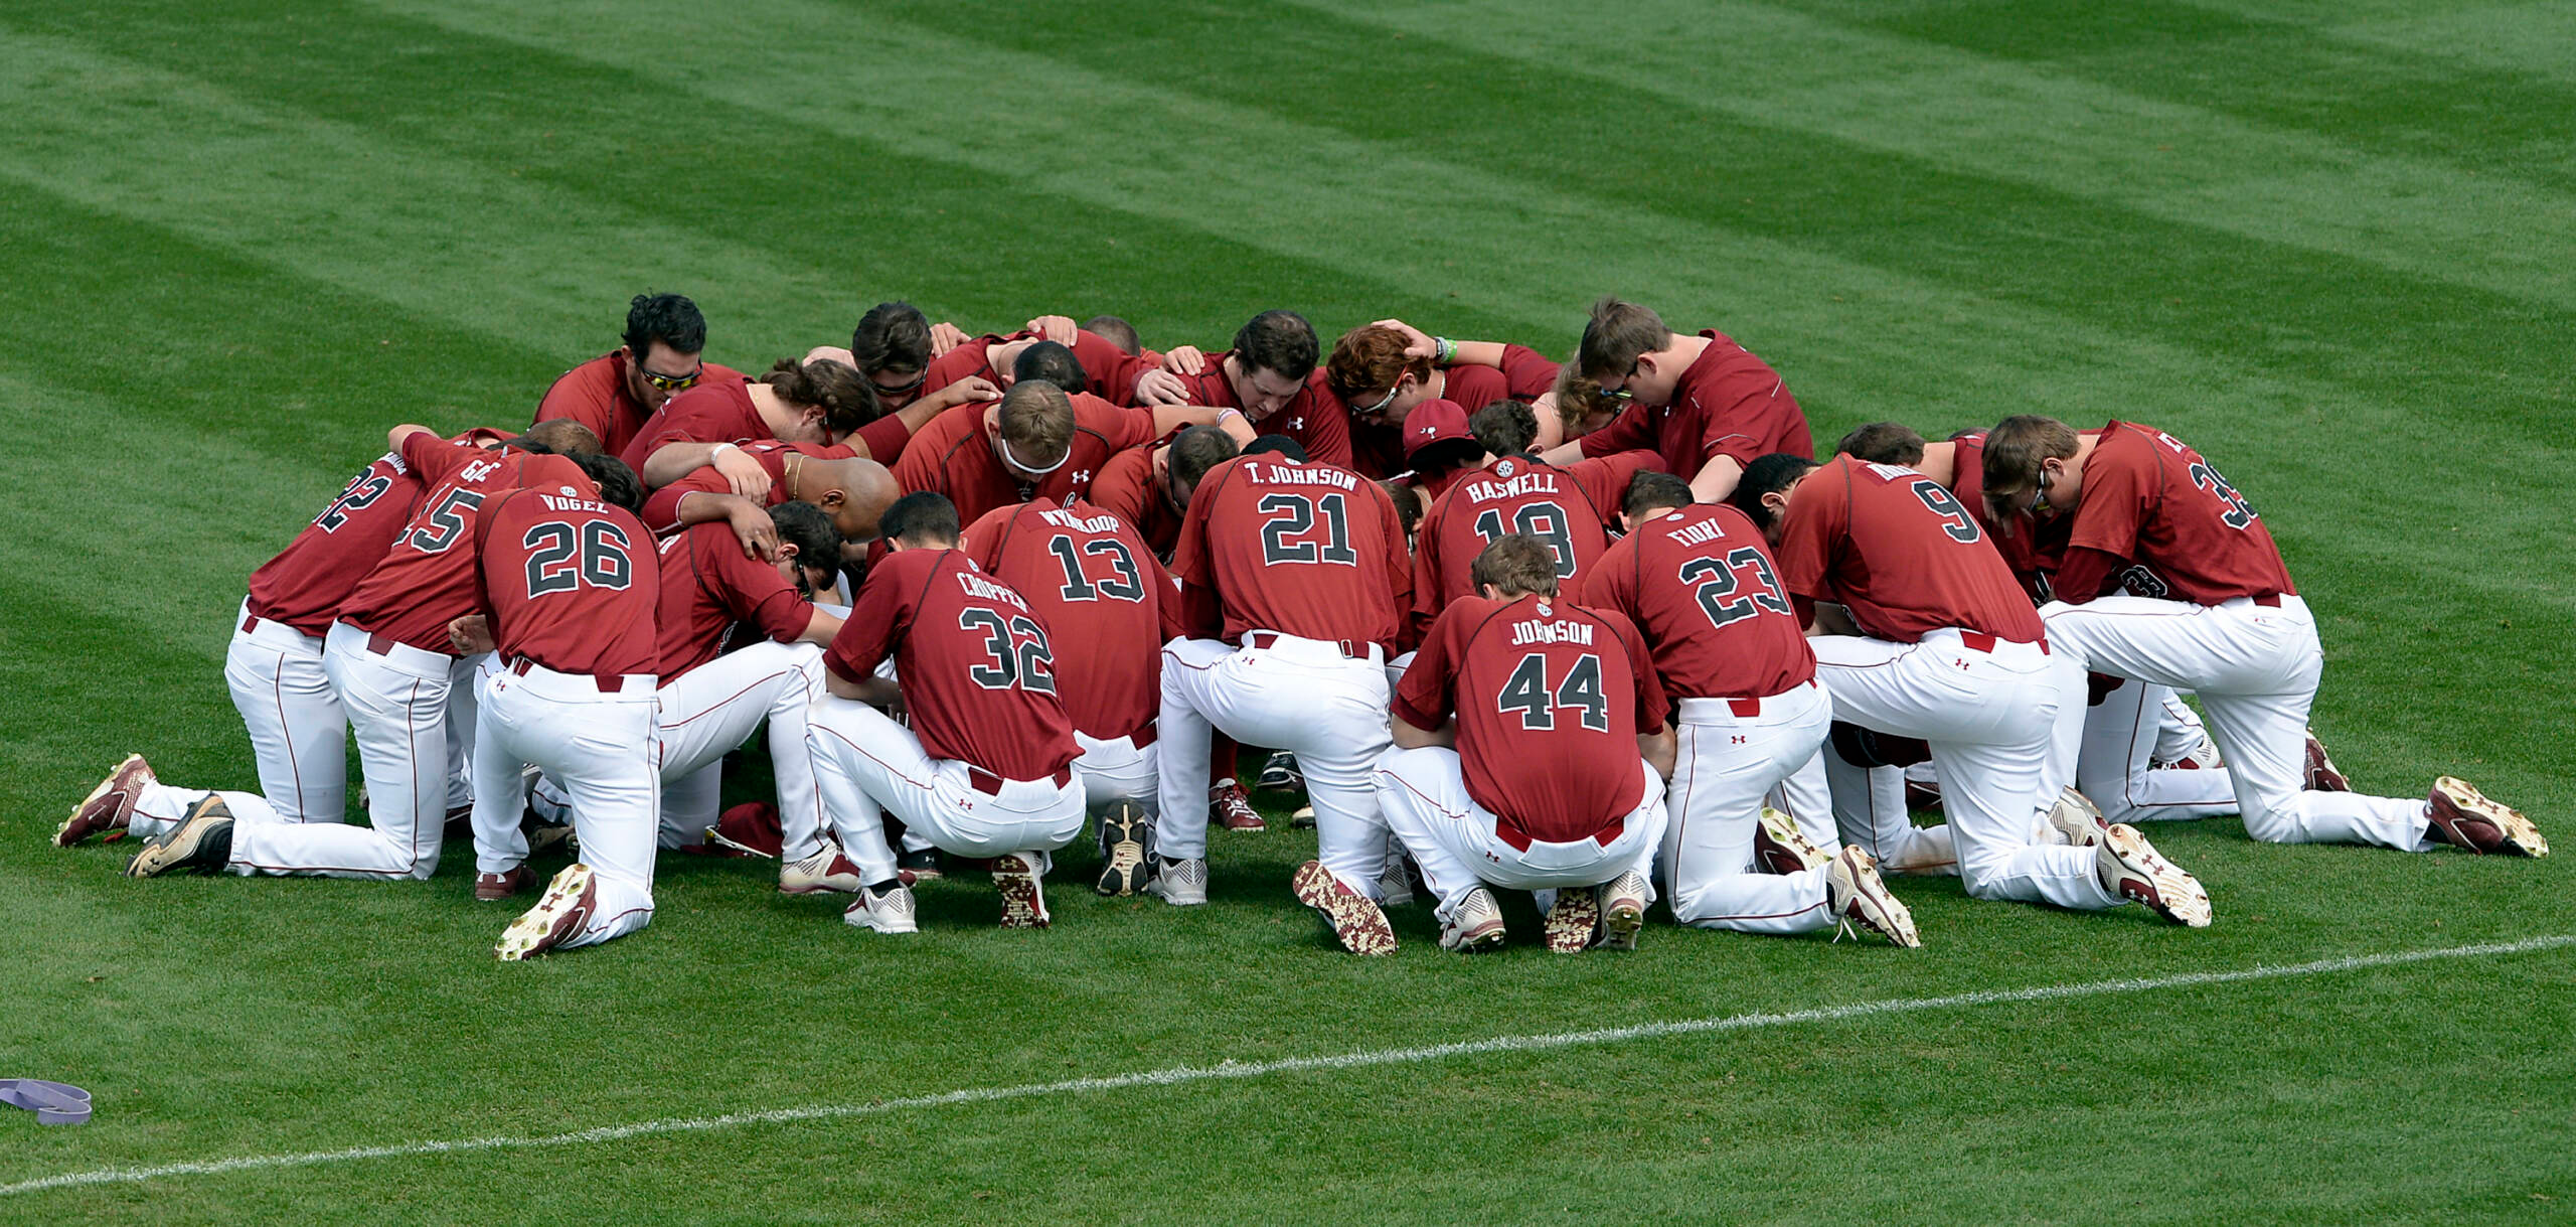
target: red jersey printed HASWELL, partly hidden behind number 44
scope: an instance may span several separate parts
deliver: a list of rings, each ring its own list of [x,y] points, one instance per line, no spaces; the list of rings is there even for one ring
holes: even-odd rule
[[[1414,621],[1430,621],[1461,595],[1476,595],[1468,570],[1504,534],[1528,534],[1556,554],[1556,590],[1582,590],[1584,570],[1610,549],[1610,523],[1628,479],[1656,464],[1654,451],[1620,451],[1553,467],[1538,456],[1497,456],[1440,490],[1414,528]]]

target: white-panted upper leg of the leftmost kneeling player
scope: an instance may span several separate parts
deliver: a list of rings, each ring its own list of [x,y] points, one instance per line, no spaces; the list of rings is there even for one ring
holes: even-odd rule
[[[224,686],[250,729],[260,794],[281,822],[348,820],[348,717],[322,673],[322,639],[252,619],[242,601],[224,650]]]

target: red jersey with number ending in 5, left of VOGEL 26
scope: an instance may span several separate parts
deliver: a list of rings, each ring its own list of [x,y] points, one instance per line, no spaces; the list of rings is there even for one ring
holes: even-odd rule
[[[459,449],[428,430],[404,436],[402,461],[428,492],[376,570],[340,603],[340,621],[425,652],[456,655],[448,624],[474,614],[474,518],[487,500],[520,487],[600,495],[564,456]]]

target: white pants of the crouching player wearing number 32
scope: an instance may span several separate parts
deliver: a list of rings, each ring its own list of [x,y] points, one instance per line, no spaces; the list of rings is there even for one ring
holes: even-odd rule
[[[1048,853],[1074,843],[1090,817],[1079,768],[1064,784],[994,778],[956,758],[930,758],[912,729],[855,699],[822,696],[806,717],[806,742],[840,851],[858,864],[863,882],[896,874],[878,807],[935,848],[956,856],[1033,853],[1041,874],[1054,861]]]

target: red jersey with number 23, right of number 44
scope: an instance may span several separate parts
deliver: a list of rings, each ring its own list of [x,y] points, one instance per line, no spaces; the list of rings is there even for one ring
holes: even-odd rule
[[[1582,603],[1646,632],[1672,699],[1765,699],[1816,675],[1762,528],[1726,503],[1638,523],[1584,575]]]

